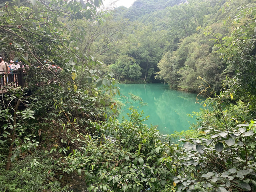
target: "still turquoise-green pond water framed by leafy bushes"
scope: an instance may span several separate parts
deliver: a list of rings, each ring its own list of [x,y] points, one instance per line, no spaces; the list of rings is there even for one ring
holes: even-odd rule
[[[160,134],[172,134],[174,130],[188,130],[190,124],[195,122],[194,118],[190,118],[187,114],[193,111],[199,111],[201,106],[196,103],[196,94],[171,90],[168,84],[119,84],[120,92],[124,96],[129,97],[129,92],[139,96],[148,103],[139,111],[144,111],[144,116],[150,116],[145,122],[148,126],[152,124],[157,126]],[[126,99],[121,99],[123,103]],[[131,100],[129,100],[131,101]],[[129,110],[130,104],[126,104],[119,116],[125,116]],[[137,107],[138,104],[134,103]]]

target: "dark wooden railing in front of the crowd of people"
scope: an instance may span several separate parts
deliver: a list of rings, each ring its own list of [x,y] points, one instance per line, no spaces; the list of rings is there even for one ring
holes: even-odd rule
[[[24,87],[24,76],[27,75],[24,69],[19,68],[13,71],[0,71],[0,83],[2,86]]]

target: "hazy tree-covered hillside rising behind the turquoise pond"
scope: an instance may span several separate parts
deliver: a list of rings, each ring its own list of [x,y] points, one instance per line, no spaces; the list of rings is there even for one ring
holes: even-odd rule
[[[117,54],[114,64],[104,62],[121,81],[164,81],[172,88],[200,92],[200,76],[218,92],[222,81],[232,77],[234,70],[223,62],[215,44],[230,35],[228,17],[233,18],[243,5],[254,6],[254,2],[138,0],[128,9],[117,8],[113,19],[126,20],[129,27],[121,39],[113,41],[124,41],[125,46],[118,53],[104,54]],[[136,74],[130,70],[135,66],[135,71],[140,70]]]

